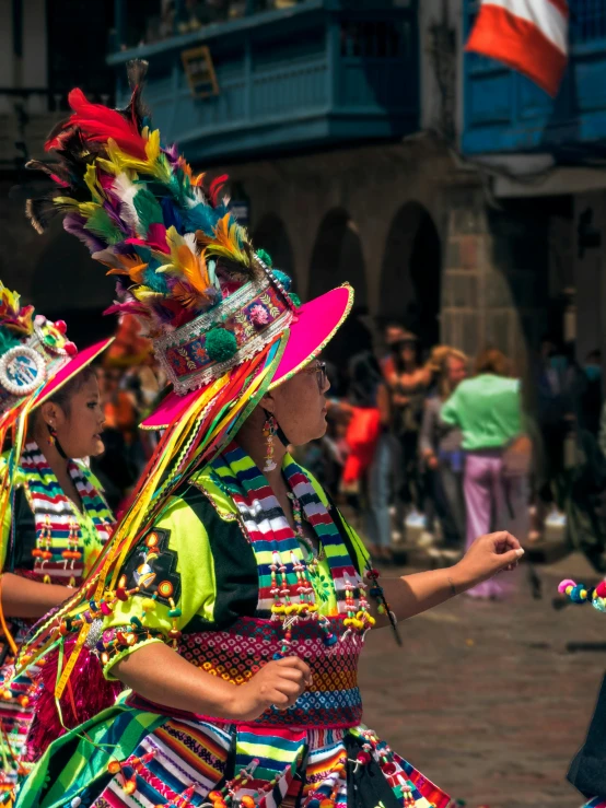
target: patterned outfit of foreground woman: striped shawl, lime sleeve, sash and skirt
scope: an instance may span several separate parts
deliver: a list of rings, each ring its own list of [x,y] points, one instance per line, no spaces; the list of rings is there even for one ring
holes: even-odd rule
[[[356,593],[358,602],[363,598],[360,562],[363,565],[364,557],[352,559],[340,523],[333,519],[317,483],[291,458],[285,459],[283,470],[326,551],[325,570],[333,589],[327,613],[317,617],[318,612],[312,612],[292,620],[289,628],[288,653],[298,654],[310,665],[311,688],[291,709],[271,707],[258,719],[237,725],[226,718],[171,711],[135,693],[125,694],[119,705],[49,747],[20,793],[18,808],[62,808],[73,805],[74,798],[81,800],[81,808],[188,808],[209,801],[222,808],[225,799],[243,808],[278,808],[298,800],[302,808],[319,808],[321,803],[323,808],[446,808],[448,797],[443,792],[360,724],[357,668],[365,632],[349,627],[349,611],[342,605],[346,589]],[[271,611],[268,561],[273,552],[280,553],[293,602],[301,602],[295,601],[301,594],[296,586],[301,585],[296,575],[301,550],[264,476],[237,446],[232,445],[210,471],[196,478],[196,496],[211,497],[210,479],[217,481],[212,489],[214,518],[233,529],[237,524],[245,539],[242,546],[236,543],[226,563],[213,546],[218,536],[214,524],[201,526],[203,540],[197,539],[190,507],[194,500],[188,500],[189,505],[171,505],[170,516],[153,529],[159,537],[168,535],[159,557],[151,561],[149,555],[141,558],[149,534],[136,551],[139,567],[149,567],[142,573],[160,574],[150,578],[147,598],[128,596],[126,589],[121,593],[128,599],[120,601],[118,614],[105,622],[102,644],[107,648],[121,633],[119,642],[128,646],[137,642],[136,631],[153,635],[154,642],[158,634],[168,641],[174,620],[172,641],[180,656],[241,686],[284,653],[284,625]],[[190,490],[183,493],[184,501],[187,497]],[[205,511],[198,508],[197,513]],[[160,548],[160,543],[154,547]],[[162,560],[166,550],[178,554],[180,585],[180,599],[170,608],[154,605],[149,597],[171,567]],[[208,613],[207,598],[212,589],[208,578],[237,592],[242,582],[248,582],[252,559],[257,571],[255,613],[242,614],[222,628],[193,628],[199,618],[196,610]],[[124,587],[135,583],[132,571],[139,569],[128,559],[126,565],[130,572],[124,576]],[[196,590],[194,595],[190,588]],[[217,594],[214,605],[219,599]],[[232,608],[237,602],[232,601]],[[241,608],[244,602],[247,600],[240,601]],[[120,628],[116,621],[124,621],[129,610],[131,622]],[[149,726],[149,731],[131,731],[131,742],[126,742],[119,733],[125,727],[132,730],[132,726]],[[103,750],[116,742],[114,758],[103,757]],[[88,754],[91,759],[86,763]]]

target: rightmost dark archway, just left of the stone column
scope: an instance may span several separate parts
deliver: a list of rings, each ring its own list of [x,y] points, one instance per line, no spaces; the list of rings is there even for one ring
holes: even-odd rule
[[[392,222],[381,270],[378,316],[418,333],[429,348],[440,341],[442,245],[419,202],[404,204]]]

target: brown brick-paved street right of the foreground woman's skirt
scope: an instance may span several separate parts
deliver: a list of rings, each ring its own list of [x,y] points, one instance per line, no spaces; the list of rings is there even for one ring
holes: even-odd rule
[[[578,808],[564,774],[606,653],[566,646],[606,643],[606,614],[556,611],[551,598],[561,578],[587,581],[586,571],[576,557],[539,567],[544,598],[533,600],[521,570],[508,604],[459,597],[401,624],[401,649],[387,630],[371,634],[365,723],[468,808]]]

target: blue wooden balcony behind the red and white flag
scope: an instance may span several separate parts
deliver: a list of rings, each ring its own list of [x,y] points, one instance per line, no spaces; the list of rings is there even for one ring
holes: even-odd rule
[[[558,153],[606,138],[606,3],[569,5],[570,62],[557,98],[499,62],[465,55],[465,153]],[[477,0],[464,0],[465,39],[477,9]]]

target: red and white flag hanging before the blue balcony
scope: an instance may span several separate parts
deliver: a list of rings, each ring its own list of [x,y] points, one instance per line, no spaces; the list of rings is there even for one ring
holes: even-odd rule
[[[465,47],[502,61],[555,96],[568,62],[567,0],[481,0]]]

